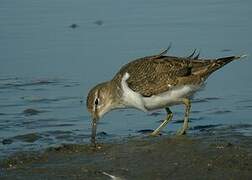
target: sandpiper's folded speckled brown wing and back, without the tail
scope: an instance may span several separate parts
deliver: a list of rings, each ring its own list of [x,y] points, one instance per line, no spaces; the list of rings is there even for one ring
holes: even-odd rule
[[[121,68],[113,80],[121,82],[129,73],[128,86],[143,96],[152,96],[179,85],[180,77],[192,73],[190,60],[171,56],[149,56],[132,61]]]

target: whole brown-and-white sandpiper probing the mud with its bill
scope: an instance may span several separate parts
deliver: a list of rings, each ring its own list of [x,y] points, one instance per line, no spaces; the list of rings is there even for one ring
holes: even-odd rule
[[[172,119],[169,107],[184,104],[184,123],[177,134],[185,134],[192,95],[204,86],[205,80],[214,71],[246,56],[201,59],[199,53],[195,55],[195,50],[187,57],[167,56],[169,48],[160,54],[133,60],[124,65],[112,80],[100,83],[89,91],[86,103],[92,117],[93,144],[96,143],[98,120],[118,108],[136,108],[144,112],[164,108],[166,118],[150,134],[155,136]]]

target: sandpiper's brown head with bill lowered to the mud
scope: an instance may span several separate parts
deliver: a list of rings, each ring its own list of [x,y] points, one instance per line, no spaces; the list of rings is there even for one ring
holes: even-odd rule
[[[113,93],[111,93],[110,82],[104,82],[91,89],[87,96],[87,109],[92,117],[91,141],[95,143],[96,128],[98,120],[111,109],[113,109]]]

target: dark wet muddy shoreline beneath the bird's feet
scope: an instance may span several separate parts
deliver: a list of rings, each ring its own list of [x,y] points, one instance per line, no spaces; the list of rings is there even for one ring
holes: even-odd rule
[[[252,137],[218,130],[64,144],[1,161],[1,179],[252,179]]]

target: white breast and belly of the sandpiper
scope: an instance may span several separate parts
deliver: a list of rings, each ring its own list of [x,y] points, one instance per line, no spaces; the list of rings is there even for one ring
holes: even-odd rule
[[[126,80],[129,78],[129,76],[130,75],[128,73],[125,73],[121,81],[123,90],[122,99],[125,106],[134,107],[142,111],[155,110],[179,104],[181,102],[181,98],[192,95],[200,88],[200,86],[185,85],[159,95],[143,97],[141,94],[134,92],[128,87]]]

